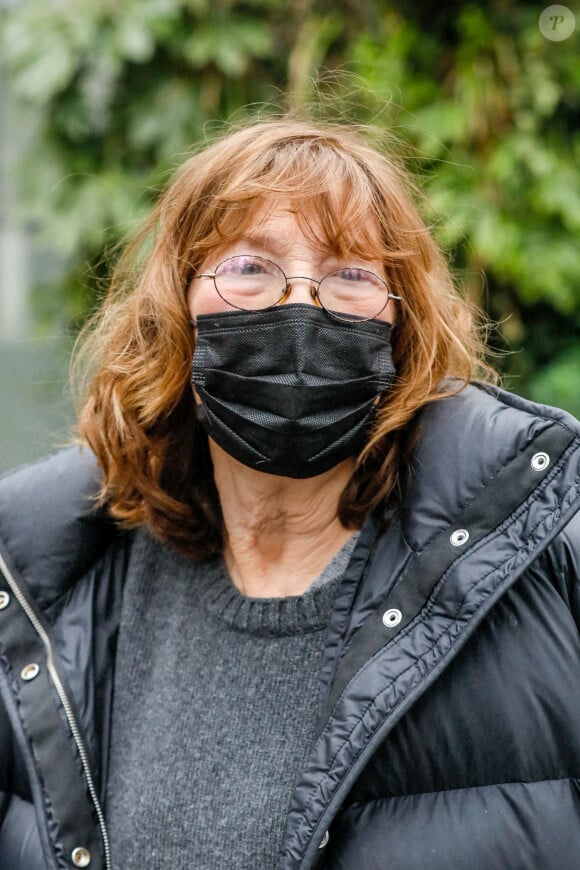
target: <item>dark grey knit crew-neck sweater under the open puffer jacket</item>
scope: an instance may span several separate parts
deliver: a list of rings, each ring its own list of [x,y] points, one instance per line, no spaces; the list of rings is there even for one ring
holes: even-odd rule
[[[221,559],[135,541],[113,705],[113,867],[272,870],[318,713],[354,536],[303,595],[248,598]]]

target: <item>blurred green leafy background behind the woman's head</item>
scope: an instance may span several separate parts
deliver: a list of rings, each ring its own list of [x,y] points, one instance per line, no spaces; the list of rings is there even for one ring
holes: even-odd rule
[[[0,470],[66,441],[107,252],[190,146],[310,104],[392,134],[504,384],[580,415],[578,4],[413,5],[0,0]]]

